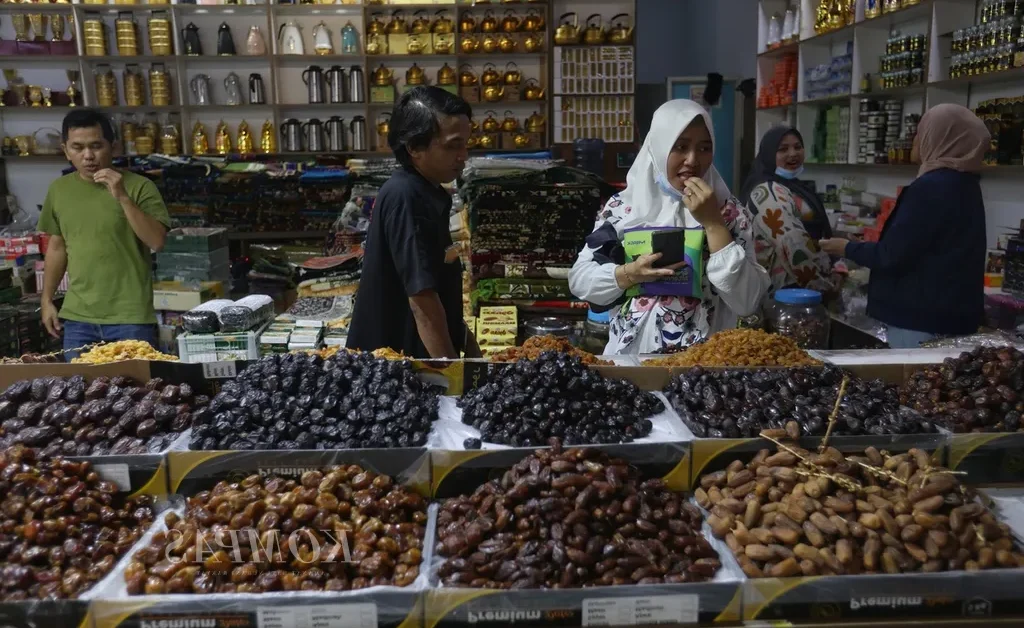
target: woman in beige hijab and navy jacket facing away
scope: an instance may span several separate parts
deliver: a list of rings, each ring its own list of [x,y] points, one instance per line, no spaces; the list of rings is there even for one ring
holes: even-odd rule
[[[971,334],[981,325],[987,242],[978,172],[990,143],[971,110],[928,110],[913,140],[918,178],[903,189],[879,242],[820,243],[871,269],[867,313],[888,326],[893,348]]]

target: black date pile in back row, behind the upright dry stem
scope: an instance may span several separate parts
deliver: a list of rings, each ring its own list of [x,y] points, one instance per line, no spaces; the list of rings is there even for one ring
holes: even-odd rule
[[[753,438],[763,429],[791,436],[822,436],[846,373],[837,367],[705,371],[676,376],[665,395],[690,431],[701,438]],[[795,425],[793,425],[795,423]],[[834,434],[910,434],[936,431],[907,408],[899,388],[882,380],[850,376]]]

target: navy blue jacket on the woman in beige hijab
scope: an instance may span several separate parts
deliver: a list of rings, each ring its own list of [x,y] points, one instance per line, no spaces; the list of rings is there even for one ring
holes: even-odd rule
[[[931,334],[978,330],[985,306],[985,204],[979,176],[943,168],[903,189],[877,243],[846,257],[871,269],[867,313]]]

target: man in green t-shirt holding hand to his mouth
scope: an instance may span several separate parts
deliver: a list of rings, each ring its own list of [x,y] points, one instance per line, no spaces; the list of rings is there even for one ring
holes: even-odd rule
[[[76,171],[50,184],[39,217],[49,234],[43,276],[43,325],[63,331],[69,349],[112,340],[156,342],[151,249],[164,247],[170,219],[150,179],[117,170],[114,127],[103,114],[78,109],[61,129],[65,155]],[[68,273],[59,315],[53,293]]]

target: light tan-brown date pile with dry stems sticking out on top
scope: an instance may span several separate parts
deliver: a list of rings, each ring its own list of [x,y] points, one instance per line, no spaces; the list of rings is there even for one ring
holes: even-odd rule
[[[1016,568],[1024,556],[922,450],[760,451],[700,478],[708,524],[751,578]],[[798,457],[799,454],[799,457]],[[802,460],[803,459],[803,460]]]

